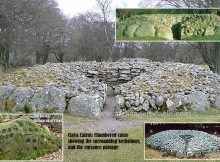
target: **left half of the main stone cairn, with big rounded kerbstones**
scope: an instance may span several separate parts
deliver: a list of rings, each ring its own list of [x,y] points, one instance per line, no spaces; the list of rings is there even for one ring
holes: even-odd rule
[[[0,108],[7,112],[68,111],[100,117],[107,85],[87,78],[84,64],[48,63],[9,75],[0,83]]]

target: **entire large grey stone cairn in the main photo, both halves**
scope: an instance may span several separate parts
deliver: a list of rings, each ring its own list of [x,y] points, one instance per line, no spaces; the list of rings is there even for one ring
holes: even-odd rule
[[[117,95],[116,115],[220,107],[220,76],[206,66],[138,58],[48,63],[17,71],[0,80],[0,108],[99,118],[107,85]]]

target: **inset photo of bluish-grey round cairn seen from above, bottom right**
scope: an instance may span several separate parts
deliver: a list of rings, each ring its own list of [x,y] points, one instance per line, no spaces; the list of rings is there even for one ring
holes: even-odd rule
[[[145,123],[145,160],[220,159],[220,123]]]

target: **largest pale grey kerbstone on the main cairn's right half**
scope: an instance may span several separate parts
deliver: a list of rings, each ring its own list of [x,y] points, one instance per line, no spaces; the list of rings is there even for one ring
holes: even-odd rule
[[[193,92],[188,95],[188,99],[193,111],[206,111],[210,108],[208,95],[204,92]]]

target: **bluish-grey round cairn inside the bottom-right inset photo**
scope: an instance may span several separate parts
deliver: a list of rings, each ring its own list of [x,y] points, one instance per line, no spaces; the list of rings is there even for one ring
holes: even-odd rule
[[[187,142],[184,136],[190,137]],[[218,151],[220,139],[202,131],[167,130],[150,136],[146,139],[146,144],[178,158],[184,158]]]

